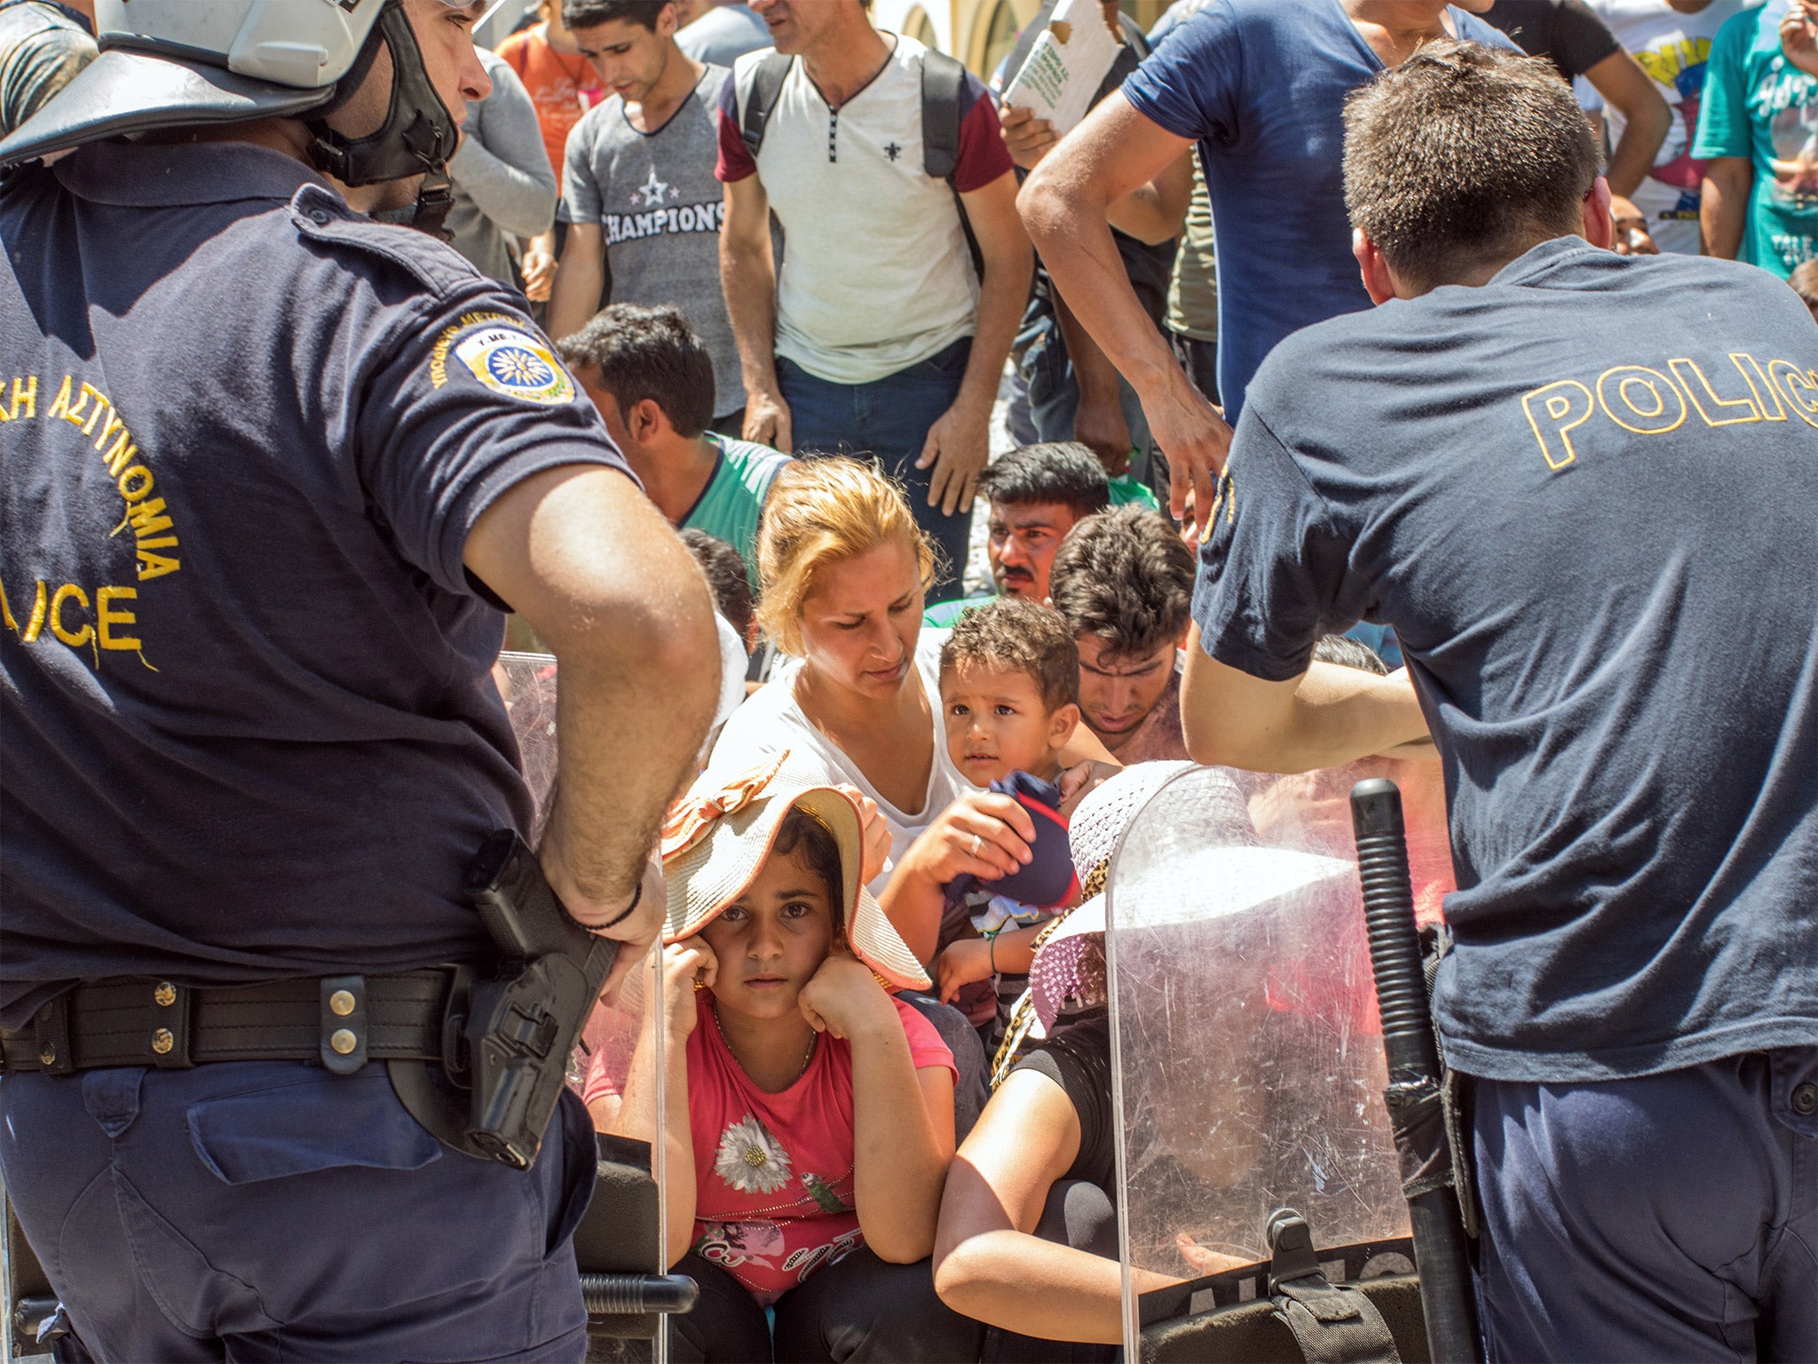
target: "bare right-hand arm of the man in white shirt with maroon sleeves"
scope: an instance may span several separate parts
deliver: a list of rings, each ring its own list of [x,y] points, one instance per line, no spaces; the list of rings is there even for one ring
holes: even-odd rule
[[[1029,278],[1034,275],[1034,251],[1016,216],[1013,171],[960,195],[960,202],[984,266],[973,349],[958,396],[929,427],[916,460],[918,469],[933,466],[927,500],[947,515],[973,509],[973,487],[991,458],[991,404],[996,402],[1004,360],[1016,340],[1016,324],[1029,302]]]

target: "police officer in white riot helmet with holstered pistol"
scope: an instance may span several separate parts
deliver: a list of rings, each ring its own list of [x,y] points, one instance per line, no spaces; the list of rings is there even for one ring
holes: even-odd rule
[[[533,820],[489,669],[507,609],[560,658],[524,866],[622,973],[720,660],[593,404],[433,235],[480,11],[98,0],[0,142],[0,1175],[96,1359],[584,1353],[585,1113],[514,1162],[449,1120],[456,1000],[513,962],[464,875]]]

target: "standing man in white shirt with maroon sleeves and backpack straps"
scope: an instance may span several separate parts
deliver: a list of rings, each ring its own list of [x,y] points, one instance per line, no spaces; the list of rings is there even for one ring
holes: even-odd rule
[[[720,96],[720,278],[744,435],[796,455],[878,456],[958,577],[1033,255],[984,85],[964,78],[949,186],[922,160],[927,49],[873,29],[865,2],[756,0],[793,56],[756,155],[742,131],[769,53],[742,56]]]

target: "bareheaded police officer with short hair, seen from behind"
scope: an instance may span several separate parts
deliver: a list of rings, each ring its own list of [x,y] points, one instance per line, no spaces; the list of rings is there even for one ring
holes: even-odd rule
[[[1549,67],[1345,105],[1378,307],[1249,384],[1182,722],[1269,771],[1431,726],[1493,1360],[1818,1359],[1818,360],[1765,271],[1609,251]],[[1405,680],[1309,664],[1367,617]]]

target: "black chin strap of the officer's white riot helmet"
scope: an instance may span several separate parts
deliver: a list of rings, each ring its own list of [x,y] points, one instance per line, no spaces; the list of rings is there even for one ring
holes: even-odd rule
[[[344,136],[329,127],[325,118],[365,82],[380,42],[391,49],[391,105],[385,109],[385,122],[365,136]],[[447,240],[442,220],[454,202],[447,158],[460,145],[460,129],[424,69],[424,55],[416,45],[416,35],[411,33],[402,0],[385,0],[360,56],[338,85],[335,98],[313,111],[307,122],[313,135],[309,158],[316,169],[345,186],[424,176],[411,226]]]

